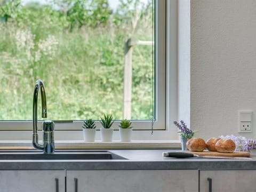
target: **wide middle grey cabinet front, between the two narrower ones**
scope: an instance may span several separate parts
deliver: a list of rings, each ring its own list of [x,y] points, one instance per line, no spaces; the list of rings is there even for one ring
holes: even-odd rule
[[[67,192],[198,191],[197,170],[67,171]]]

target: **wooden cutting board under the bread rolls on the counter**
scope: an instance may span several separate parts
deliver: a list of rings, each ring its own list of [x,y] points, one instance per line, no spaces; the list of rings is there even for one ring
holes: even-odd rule
[[[226,156],[226,157],[250,157],[250,153],[246,151],[235,151],[234,153],[219,153],[217,151],[186,151],[188,153],[193,153],[196,155],[211,155],[211,156]]]

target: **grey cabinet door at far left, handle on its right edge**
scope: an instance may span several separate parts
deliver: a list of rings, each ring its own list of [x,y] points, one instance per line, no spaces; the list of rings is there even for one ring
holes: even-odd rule
[[[65,192],[65,171],[1,170],[1,192]]]

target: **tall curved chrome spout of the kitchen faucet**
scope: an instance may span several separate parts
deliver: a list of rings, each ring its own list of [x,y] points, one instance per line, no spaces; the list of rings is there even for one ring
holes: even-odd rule
[[[38,133],[37,133],[37,99],[38,91],[41,92],[41,101],[42,101],[42,117],[47,117],[47,108],[46,108],[46,95],[45,87],[42,80],[38,79],[34,88],[34,97],[33,97],[33,146],[36,149],[43,150],[44,145],[38,143]]]

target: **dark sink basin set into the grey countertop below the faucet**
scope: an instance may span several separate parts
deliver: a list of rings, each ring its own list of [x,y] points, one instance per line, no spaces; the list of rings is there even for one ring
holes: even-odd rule
[[[0,160],[117,160],[126,159],[109,151],[59,150],[54,154],[43,154],[37,150],[0,151]]]

